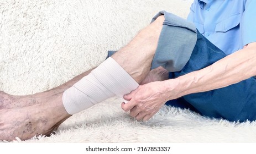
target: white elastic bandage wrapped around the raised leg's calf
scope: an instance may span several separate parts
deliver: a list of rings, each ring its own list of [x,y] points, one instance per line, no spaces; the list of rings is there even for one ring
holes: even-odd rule
[[[67,89],[63,105],[69,114],[75,114],[109,97],[130,93],[139,84],[116,62],[109,57],[90,74]]]

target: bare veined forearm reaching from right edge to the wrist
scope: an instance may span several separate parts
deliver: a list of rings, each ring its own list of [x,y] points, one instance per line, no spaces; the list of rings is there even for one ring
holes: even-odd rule
[[[201,70],[191,72],[173,80],[167,80],[167,91],[176,87],[177,97],[218,89],[256,75],[255,43],[237,51]],[[172,85],[175,84],[173,87]],[[171,94],[170,96],[173,96]],[[171,98],[174,99],[174,98]]]

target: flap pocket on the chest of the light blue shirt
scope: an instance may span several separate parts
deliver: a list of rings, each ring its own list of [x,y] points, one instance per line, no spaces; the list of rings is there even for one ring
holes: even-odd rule
[[[234,13],[228,18],[218,22],[215,27],[216,32],[227,32],[238,26],[241,20],[241,13]]]

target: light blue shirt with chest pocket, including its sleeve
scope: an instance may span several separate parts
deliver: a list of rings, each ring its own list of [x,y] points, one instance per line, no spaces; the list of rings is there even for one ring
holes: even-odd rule
[[[187,20],[226,54],[256,42],[256,0],[195,0]]]

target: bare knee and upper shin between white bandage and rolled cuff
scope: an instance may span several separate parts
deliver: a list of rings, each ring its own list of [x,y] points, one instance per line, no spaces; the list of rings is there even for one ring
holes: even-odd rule
[[[150,71],[163,22],[164,16],[161,15],[111,56],[137,83],[142,82]]]

